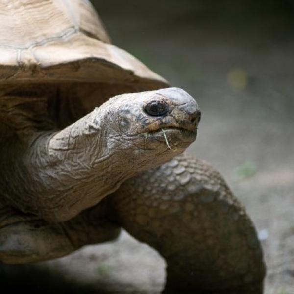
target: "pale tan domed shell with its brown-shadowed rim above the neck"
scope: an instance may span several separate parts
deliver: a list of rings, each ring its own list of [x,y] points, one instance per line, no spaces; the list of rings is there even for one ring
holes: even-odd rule
[[[159,75],[110,44],[86,0],[0,2],[0,82],[87,81],[163,86]]]

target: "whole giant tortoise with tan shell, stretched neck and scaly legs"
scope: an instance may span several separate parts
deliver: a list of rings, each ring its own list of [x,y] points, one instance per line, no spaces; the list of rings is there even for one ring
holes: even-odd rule
[[[262,293],[245,208],[183,153],[194,98],[110,44],[87,0],[0,11],[1,262],[58,258],[124,228],[165,258],[166,293]]]

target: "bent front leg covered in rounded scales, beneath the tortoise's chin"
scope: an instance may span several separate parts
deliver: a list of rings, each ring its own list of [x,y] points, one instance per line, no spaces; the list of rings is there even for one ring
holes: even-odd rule
[[[166,259],[166,293],[263,292],[254,225],[205,162],[177,156],[123,183],[112,203],[120,224]]]

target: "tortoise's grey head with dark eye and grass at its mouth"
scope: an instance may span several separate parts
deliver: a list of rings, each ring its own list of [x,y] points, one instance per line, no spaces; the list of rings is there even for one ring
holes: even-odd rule
[[[117,148],[181,153],[196,139],[201,112],[182,89],[123,94],[105,104],[107,137]]]

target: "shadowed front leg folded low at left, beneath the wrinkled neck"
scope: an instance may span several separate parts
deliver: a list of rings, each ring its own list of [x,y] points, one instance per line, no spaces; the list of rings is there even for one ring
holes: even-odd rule
[[[8,264],[62,257],[83,245],[113,240],[121,231],[117,224],[107,220],[104,200],[72,220],[59,223],[49,223],[9,207],[5,212],[11,218],[0,219],[0,262]]]

